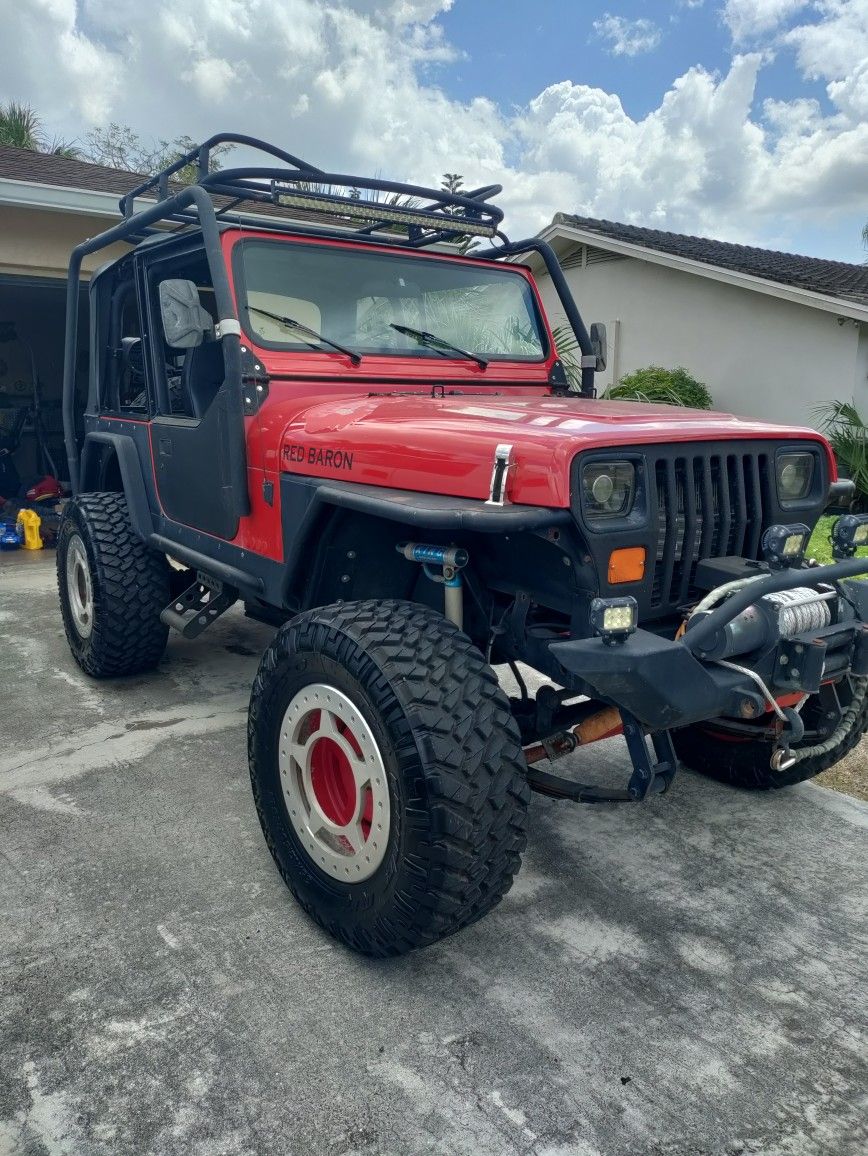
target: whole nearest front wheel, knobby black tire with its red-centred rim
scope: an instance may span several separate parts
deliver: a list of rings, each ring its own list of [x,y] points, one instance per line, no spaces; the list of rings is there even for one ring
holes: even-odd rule
[[[262,655],[247,741],[281,875],[355,950],[433,943],[510,889],[521,738],[495,672],[436,610],[366,600],[292,618]]]

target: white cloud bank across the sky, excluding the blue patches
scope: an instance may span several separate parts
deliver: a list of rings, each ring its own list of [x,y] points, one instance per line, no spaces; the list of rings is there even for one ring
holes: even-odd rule
[[[334,171],[502,183],[515,236],[558,210],[761,243],[863,217],[868,0],[822,0],[778,35],[779,54],[826,84],[831,111],[757,109],[763,43],[721,75],[688,69],[640,118],[570,80],[519,109],[451,98],[437,83],[458,57],[438,22],[448,7],[200,0],[193,18],[173,0],[29,0],[5,16],[0,98],[34,104],[66,136],[109,119],[158,138],[230,129]]]

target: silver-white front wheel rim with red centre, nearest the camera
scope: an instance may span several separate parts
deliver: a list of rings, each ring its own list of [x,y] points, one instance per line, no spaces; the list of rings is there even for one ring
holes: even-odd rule
[[[281,722],[277,764],[311,860],[343,883],[369,879],[386,854],[391,809],[383,755],[359,709],[324,683],[299,690]]]

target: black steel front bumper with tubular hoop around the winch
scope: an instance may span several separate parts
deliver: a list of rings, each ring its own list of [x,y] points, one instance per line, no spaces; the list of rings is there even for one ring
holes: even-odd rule
[[[816,694],[823,681],[844,674],[868,675],[868,558],[850,558],[829,566],[782,570],[734,593],[705,615],[678,640],[637,630],[626,642],[607,645],[601,638],[554,642],[551,657],[581,680],[595,696],[628,711],[651,731],[668,731],[712,718],[751,719],[767,709],[763,683],[776,697]],[[781,638],[763,655],[757,682],[706,655],[720,630],[766,594],[797,586],[834,585],[840,594],[837,621],[822,630]],[[797,651],[800,661],[780,662]],[[735,660],[751,666],[748,658]],[[786,673],[785,673],[786,672]],[[796,677],[793,677],[795,675]]]

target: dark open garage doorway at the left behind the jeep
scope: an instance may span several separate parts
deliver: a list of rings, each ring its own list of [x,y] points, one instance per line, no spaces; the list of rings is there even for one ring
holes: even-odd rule
[[[65,314],[66,281],[0,275],[0,505],[23,499],[45,477],[68,487],[61,410]],[[83,289],[76,354],[82,401],[87,333]]]

